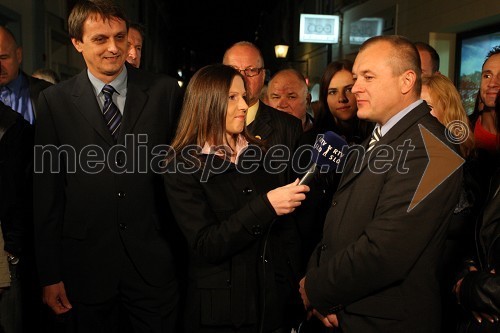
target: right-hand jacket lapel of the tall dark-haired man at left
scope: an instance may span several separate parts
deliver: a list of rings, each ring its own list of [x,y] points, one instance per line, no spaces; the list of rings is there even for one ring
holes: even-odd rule
[[[138,75],[138,70],[127,66],[127,99],[123,111],[122,125],[118,141],[122,142],[125,134],[133,132],[134,126],[148,100],[147,84]]]

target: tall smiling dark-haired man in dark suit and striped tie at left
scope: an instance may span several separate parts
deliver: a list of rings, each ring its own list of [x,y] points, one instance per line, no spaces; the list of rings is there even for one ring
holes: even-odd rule
[[[168,204],[151,164],[161,160],[152,148],[172,135],[179,87],[125,65],[127,27],[111,1],[78,2],[68,28],[87,69],[40,95],[34,209],[43,299],[78,332],[174,331]],[[130,325],[119,328],[123,318]]]

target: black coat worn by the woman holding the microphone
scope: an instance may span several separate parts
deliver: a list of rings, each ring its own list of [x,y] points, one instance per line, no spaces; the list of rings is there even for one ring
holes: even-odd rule
[[[292,294],[298,296],[300,249],[293,220],[275,221],[266,196],[279,179],[261,168],[222,167],[214,155],[205,166],[191,173],[171,168],[164,177],[189,245],[186,331],[257,332],[263,311],[264,332],[276,330],[289,319],[285,306]],[[218,171],[203,180],[203,170]]]

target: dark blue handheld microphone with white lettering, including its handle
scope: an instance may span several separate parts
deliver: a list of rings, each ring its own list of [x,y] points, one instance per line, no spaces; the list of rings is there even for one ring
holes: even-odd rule
[[[318,171],[327,168],[328,171],[335,171],[344,157],[344,147],[348,144],[340,135],[328,131],[323,135],[318,135],[314,147],[311,150],[312,166],[307,170],[299,182],[299,185],[307,185],[314,178]]]

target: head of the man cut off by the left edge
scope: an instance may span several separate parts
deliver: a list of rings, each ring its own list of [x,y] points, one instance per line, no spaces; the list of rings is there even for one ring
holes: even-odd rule
[[[0,26],[0,87],[14,81],[23,60],[21,47],[10,30]]]

